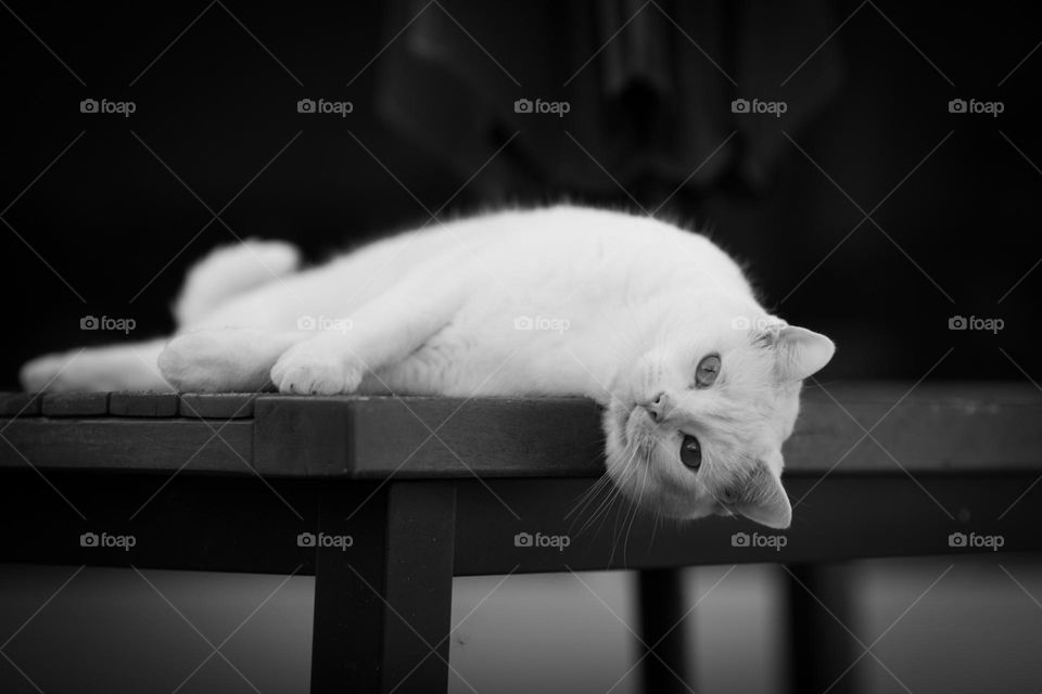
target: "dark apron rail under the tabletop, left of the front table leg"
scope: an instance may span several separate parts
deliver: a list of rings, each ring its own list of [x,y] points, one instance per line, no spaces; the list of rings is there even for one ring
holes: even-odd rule
[[[315,484],[274,480],[268,486],[219,475],[76,470],[45,475],[46,480],[24,464],[0,475],[0,523],[20,528],[0,534],[5,563],[315,573],[314,549],[296,542],[303,529],[317,524]],[[79,538],[86,532],[132,536],[135,541],[126,549],[100,542],[84,547]]]

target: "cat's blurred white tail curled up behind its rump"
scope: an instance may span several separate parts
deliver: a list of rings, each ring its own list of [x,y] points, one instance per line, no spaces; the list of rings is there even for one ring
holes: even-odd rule
[[[294,272],[301,254],[282,241],[247,239],[212,250],[189,270],[174,305],[178,330],[191,327],[226,299]]]

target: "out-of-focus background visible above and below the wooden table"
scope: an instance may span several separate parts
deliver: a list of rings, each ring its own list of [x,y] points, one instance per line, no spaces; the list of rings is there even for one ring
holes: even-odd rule
[[[836,339],[825,383],[1042,374],[1031,3],[0,4],[3,389],[40,352],[167,333],[216,245],[289,239],[320,261],[432,217],[562,200],[710,232],[766,306]],[[85,332],[85,316],[136,329]],[[859,565],[863,638],[946,565]],[[722,571],[692,570],[691,594]],[[739,567],[691,622],[707,691],[775,691],[774,571]],[[4,568],[0,639],[69,573]],[[1017,576],[1042,595],[1037,567]],[[570,579],[507,581],[454,667],[480,691],[610,687],[634,645]],[[223,639],[281,579],[156,580]],[[454,613],[497,580],[458,580]],[[589,580],[630,614],[626,575]],[[878,646],[901,680],[1042,687],[1034,599],[987,562],[942,584]],[[291,580],[231,642],[265,692],[306,687],[309,586]],[[54,667],[76,650],[91,657]],[[48,692],[129,692],[169,691],[208,648],[138,577],[88,569],[3,652],[0,691],[35,691],[22,668]],[[872,659],[850,677],[903,691]],[[245,686],[214,658],[181,691]]]

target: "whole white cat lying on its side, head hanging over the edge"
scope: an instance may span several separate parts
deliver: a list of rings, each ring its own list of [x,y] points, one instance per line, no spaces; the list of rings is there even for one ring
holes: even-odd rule
[[[608,473],[632,499],[789,525],[782,444],[801,381],[835,346],[768,316],[704,236],[558,206],[297,261],[277,242],[219,249],[189,273],[173,339],[42,357],[23,384],[588,396],[605,407]]]

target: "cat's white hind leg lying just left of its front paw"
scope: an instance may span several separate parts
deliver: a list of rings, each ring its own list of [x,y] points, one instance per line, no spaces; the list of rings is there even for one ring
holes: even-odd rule
[[[176,336],[158,355],[163,377],[180,393],[257,393],[271,386],[271,367],[309,333],[251,327],[198,330]]]

